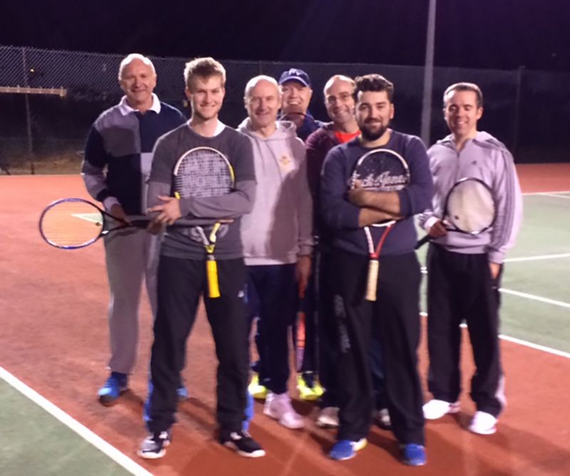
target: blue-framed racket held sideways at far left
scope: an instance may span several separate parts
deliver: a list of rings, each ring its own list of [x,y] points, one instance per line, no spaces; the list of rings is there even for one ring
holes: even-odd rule
[[[150,217],[130,215],[129,222],[105,212],[83,198],[62,198],[48,205],[39,221],[41,237],[52,247],[78,249],[95,243],[110,232],[125,228],[146,228]],[[180,219],[175,226],[213,223],[212,219]]]

